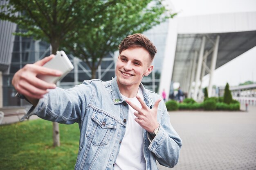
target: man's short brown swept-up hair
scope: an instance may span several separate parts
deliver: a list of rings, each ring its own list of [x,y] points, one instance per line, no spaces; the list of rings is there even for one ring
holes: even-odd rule
[[[128,35],[123,39],[123,41],[118,46],[119,54],[128,48],[139,47],[145,48],[149,52],[151,59],[154,59],[155,54],[157,53],[157,48],[145,35],[139,33]]]

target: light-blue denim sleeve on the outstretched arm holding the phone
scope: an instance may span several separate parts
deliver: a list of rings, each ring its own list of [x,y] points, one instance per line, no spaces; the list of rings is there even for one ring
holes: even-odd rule
[[[81,123],[85,109],[93,94],[90,85],[77,85],[70,89],[50,89],[36,105],[31,113],[52,122],[72,124]]]

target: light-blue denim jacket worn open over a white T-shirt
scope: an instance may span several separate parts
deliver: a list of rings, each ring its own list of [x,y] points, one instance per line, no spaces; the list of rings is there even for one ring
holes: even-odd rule
[[[152,108],[160,98],[140,84],[144,101]],[[70,89],[51,89],[26,117],[36,114],[58,123],[78,123],[79,153],[75,170],[113,170],[128,122],[128,104],[122,98],[117,78],[84,81]],[[157,170],[156,160],[166,167],[177,164],[182,141],[173,129],[164,101],[159,103],[160,129],[152,139],[144,130],[146,170]]]

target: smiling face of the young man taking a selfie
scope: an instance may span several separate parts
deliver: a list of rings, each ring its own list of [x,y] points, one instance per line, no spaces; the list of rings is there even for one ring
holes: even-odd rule
[[[119,54],[116,76],[119,88],[138,88],[143,76],[153,70],[151,57],[144,48],[128,48]]]

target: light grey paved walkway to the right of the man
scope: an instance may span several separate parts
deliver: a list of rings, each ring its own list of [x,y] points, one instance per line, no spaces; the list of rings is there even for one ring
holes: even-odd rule
[[[173,170],[256,170],[256,106],[234,112],[175,111],[170,119],[183,141]]]

